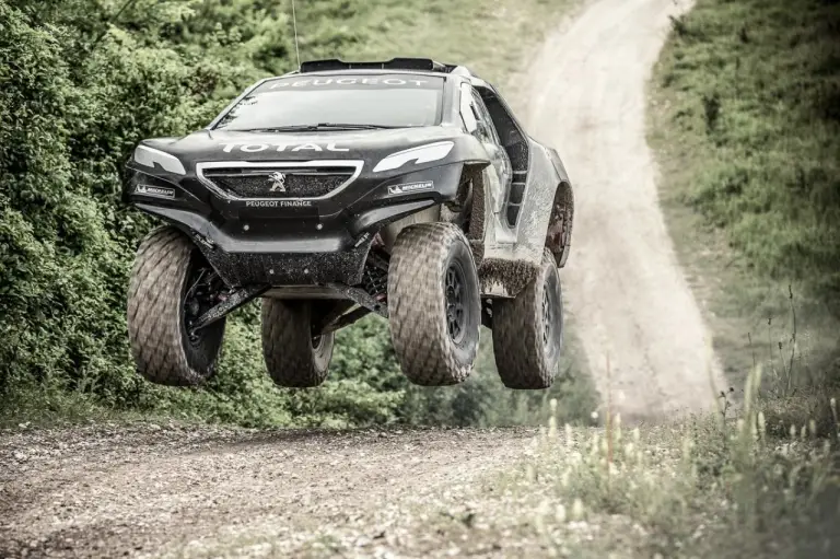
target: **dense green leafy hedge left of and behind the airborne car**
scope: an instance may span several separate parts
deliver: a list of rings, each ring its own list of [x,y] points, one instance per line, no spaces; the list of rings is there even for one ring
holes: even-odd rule
[[[378,8],[397,13],[400,34],[413,12],[372,4],[308,2],[301,48],[310,58],[392,49]],[[289,5],[269,0],[0,0],[2,415],[37,401],[60,415],[79,400],[246,426],[516,421],[505,398],[522,397],[503,394],[491,361],[459,388],[409,386],[374,318],[340,333],[316,391],[270,383],[257,304],[229,321],[219,374],[202,389],[135,374],[125,291],[152,221],[120,200],[121,167],[139,139],[200,128],[247,84],[293,69],[293,38]]]

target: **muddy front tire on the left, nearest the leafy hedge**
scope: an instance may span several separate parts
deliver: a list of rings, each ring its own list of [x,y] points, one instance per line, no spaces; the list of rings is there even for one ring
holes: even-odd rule
[[[201,270],[209,270],[201,253],[172,226],[149,233],[137,251],[128,288],[128,339],[137,371],[150,382],[194,386],[215,372],[224,318],[191,338],[186,327],[185,300]]]

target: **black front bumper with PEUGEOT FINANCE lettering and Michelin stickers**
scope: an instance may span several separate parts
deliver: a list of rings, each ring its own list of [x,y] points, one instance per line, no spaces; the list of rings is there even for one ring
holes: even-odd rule
[[[462,170],[457,163],[385,178],[362,174],[335,195],[278,205],[225,196],[200,176],[152,176],[136,168],[126,196],[192,237],[229,286],[354,286],[376,233],[452,200]]]

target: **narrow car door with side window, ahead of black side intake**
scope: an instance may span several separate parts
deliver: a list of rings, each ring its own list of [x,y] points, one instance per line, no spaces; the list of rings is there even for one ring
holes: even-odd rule
[[[508,197],[513,168],[481,95],[467,83],[462,88],[462,117],[467,130],[481,141],[490,158],[492,170],[498,178],[492,188],[494,191],[491,193],[492,208],[494,213],[499,213]]]

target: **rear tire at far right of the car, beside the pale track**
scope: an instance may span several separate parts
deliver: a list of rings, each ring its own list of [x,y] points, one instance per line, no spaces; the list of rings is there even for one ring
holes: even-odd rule
[[[541,389],[555,382],[563,345],[560,275],[546,248],[536,279],[515,299],[493,301],[493,353],[509,388]]]

